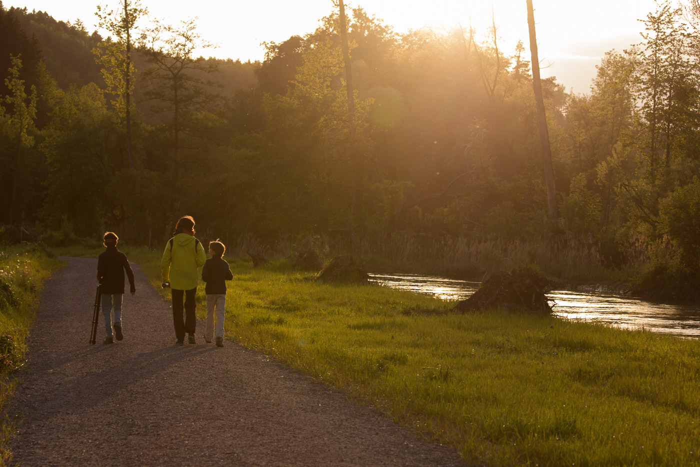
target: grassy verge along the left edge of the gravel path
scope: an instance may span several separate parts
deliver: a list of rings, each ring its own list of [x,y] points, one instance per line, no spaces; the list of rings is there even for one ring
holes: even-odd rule
[[[17,386],[13,372],[25,361],[25,339],[34,319],[41,283],[60,263],[38,245],[0,248],[0,407]],[[0,426],[0,465],[10,460],[6,447],[13,433],[13,421]]]

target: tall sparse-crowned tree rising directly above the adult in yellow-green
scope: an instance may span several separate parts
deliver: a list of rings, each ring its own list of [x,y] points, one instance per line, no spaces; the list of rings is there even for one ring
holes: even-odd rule
[[[214,45],[197,33],[197,18],[183,20],[179,27],[158,20],[141,37],[141,51],[151,67],[142,74],[148,100],[155,100],[153,111],[166,114],[173,135],[173,187],[179,182],[181,164],[181,133],[190,129],[189,123],[197,111],[208,111],[215,95],[207,92],[214,83],[205,76],[216,72],[216,62],[195,58],[195,50]]]

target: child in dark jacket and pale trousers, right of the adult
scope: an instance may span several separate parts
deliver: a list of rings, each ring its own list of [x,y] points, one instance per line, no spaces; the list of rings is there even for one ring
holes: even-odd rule
[[[209,243],[209,255],[202,268],[202,280],[207,283],[207,323],[204,326],[204,340],[211,342],[214,337],[214,311],[216,311],[216,346],[223,347],[223,320],[226,304],[226,281],[233,280],[228,263],[223,259],[226,247],[218,241]]]

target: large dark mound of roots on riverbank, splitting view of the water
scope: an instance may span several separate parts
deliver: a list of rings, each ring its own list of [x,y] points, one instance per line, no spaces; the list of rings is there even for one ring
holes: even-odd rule
[[[466,300],[459,302],[452,311],[468,313],[506,309],[531,313],[552,314],[547,301],[549,281],[531,271],[513,269],[510,273],[493,273],[479,290]]]

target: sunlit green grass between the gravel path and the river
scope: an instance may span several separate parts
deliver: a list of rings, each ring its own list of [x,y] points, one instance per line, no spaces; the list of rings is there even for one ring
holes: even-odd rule
[[[132,257],[160,283],[160,254]],[[282,263],[232,271],[228,337],[453,445],[467,463],[700,465],[696,340],[456,315],[410,292],[318,285]]]

